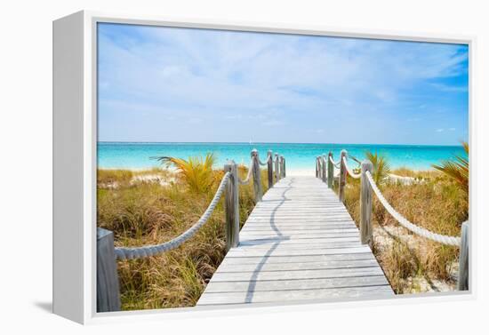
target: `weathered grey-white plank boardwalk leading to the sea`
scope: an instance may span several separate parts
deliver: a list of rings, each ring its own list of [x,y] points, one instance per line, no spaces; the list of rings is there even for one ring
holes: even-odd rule
[[[393,291],[338,196],[315,177],[263,195],[197,305],[379,298]]]

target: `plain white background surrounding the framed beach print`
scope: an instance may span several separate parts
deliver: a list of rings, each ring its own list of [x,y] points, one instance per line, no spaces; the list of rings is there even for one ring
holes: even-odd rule
[[[477,36],[477,214],[479,241],[488,236],[487,92],[489,24],[482,1],[4,1],[0,15],[0,332],[63,333],[480,333],[488,308],[488,243],[477,245],[476,300],[402,306],[301,308],[301,312],[195,318],[83,328],[47,312],[52,272],[52,20],[81,9]],[[474,162],[472,162],[474,163]],[[474,165],[472,165],[474,169]],[[472,170],[474,171],[474,170]],[[485,206],[485,208],[482,208]],[[484,245],[485,244],[485,245]],[[365,307],[366,306],[366,307]],[[484,311],[485,309],[485,311]],[[235,325],[237,324],[237,326]],[[10,331],[6,331],[10,329]],[[226,331],[227,329],[232,331]]]

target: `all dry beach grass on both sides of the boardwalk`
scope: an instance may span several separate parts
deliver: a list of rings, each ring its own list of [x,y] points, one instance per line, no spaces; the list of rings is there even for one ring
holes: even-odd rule
[[[244,179],[247,168],[240,165]],[[266,171],[262,188],[267,190]],[[415,224],[443,235],[460,235],[469,199],[440,171],[390,171],[417,181],[381,183],[393,207]],[[176,171],[98,171],[98,226],[114,232],[116,246],[169,241],[191,227],[210,203],[223,171],[212,170],[208,189],[196,192]],[[345,204],[360,219],[358,179],[348,177]],[[253,183],[239,191],[240,223],[253,210]],[[397,293],[454,290],[458,248],[430,242],[400,227],[373,195],[373,252]],[[192,307],[225,256],[225,220],[220,201],[208,222],[179,248],[147,259],[117,261],[124,310]]]

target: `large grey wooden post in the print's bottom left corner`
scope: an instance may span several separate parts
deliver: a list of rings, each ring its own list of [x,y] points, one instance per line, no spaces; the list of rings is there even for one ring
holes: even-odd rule
[[[121,310],[114,233],[97,228],[97,312]]]

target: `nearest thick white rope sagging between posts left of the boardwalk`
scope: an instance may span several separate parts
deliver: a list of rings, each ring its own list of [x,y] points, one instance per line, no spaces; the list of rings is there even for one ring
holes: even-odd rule
[[[181,243],[187,241],[193,235],[196,235],[196,232],[200,229],[200,227],[204,226],[207,220],[211,217],[212,211],[214,211],[217,203],[219,203],[220,196],[222,192],[224,192],[224,188],[228,183],[229,177],[231,176],[231,172],[227,171],[224,174],[224,177],[220,180],[220,185],[217,188],[217,191],[212,198],[211,203],[204,211],[204,214],[196,221],[196,223],[189,227],[184,233],[178,235],[172,240],[156,245],[145,245],[142,247],[117,247],[115,248],[116,259],[142,259],[145,257],[155,256],[164,251],[171,251],[172,249],[178,248]]]

